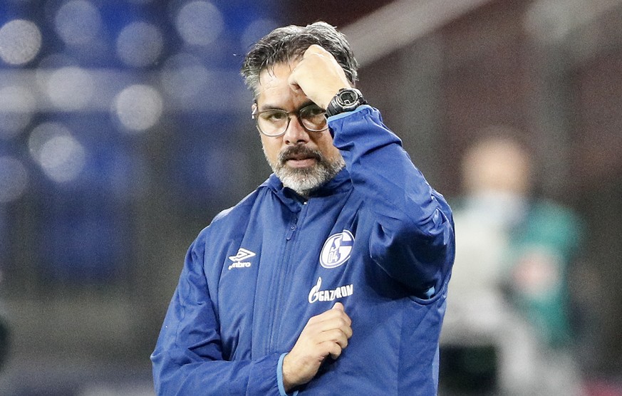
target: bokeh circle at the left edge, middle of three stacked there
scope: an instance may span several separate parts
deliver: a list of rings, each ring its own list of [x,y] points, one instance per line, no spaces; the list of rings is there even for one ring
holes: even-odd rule
[[[9,85],[0,89],[0,139],[19,134],[31,122],[36,100],[26,88]]]

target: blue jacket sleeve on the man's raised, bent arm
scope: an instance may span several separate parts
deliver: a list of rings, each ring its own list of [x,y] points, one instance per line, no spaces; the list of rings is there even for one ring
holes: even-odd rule
[[[328,123],[370,217],[371,258],[416,296],[440,291],[455,253],[445,198],[427,184],[375,108],[363,105]]]

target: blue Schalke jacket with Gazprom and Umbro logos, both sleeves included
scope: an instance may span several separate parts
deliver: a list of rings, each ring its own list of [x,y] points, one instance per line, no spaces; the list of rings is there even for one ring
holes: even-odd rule
[[[190,246],[151,357],[159,395],[284,395],[284,353],[336,301],[352,338],[301,395],[436,395],[450,208],[378,110],[328,123],[346,169],[306,202],[273,174]]]

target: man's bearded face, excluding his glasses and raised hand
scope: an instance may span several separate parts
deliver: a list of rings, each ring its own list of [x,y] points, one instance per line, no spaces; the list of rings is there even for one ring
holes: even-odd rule
[[[301,90],[292,90],[288,83],[296,63],[278,63],[259,74],[258,111],[281,109],[296,112],[312,103]],[[333,146],[328,130],[308,132],[294,116],[291,116],[284,135],[260,135],[264,154],[273,172],[285,187],[299,194],[309,194],[332,179],[344,166],[341,153]]]

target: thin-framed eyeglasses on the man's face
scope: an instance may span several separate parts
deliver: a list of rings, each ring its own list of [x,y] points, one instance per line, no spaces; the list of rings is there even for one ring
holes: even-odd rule
[[[289,127],[291,115],[298,117],[300,124],[307,132],[322,132],[328,129],[326,110],[315,104],[291,112],[279,109],[263,111],[255,109],[252,113],[259,132],[270,137],[284,135],[287,127]]]

